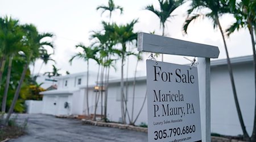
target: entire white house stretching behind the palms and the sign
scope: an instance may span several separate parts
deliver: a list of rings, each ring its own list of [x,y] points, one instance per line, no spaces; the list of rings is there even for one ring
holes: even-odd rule
[[[240,102],[243,120],[248,133],[253,130],[255,88],[253,57],[236,57],[231,59],[234,80],[237,87],[238,100]],[[94,91],[96,73],[90,74],[89,80],[89,114],[93,114],[95,108],[96,91]],[[57,77],[58,89],[45,91],[43,97],[43,114],[52,115],[84,115],[87,114],[86,103],[86,73],[70,74]],[[238,120],[236,105],[226,59],[211,61],[211,131],[223,135],[239,135],[242,133]],[[127,110],[131,117],[133,100],[133,78],[128,78],[127,86]],[[120,80],[109,81],[107,114],[108,119],[121,121]],[[126,93],[126,89],[125,89]],[[135,87],[134,115],[137,116],[146,95],[146,76],[138,77]],[[66,103],[67,102],[67,103]],[[102,102],[102,103],[101,103]],[[102,107],[101,107],[102,104]],[[101,114],[104,108],[104,94],[98,99],[97,114]],[[128,121],[128,119],[127,119]],[[135,124],[147,123],[147,101]]]

